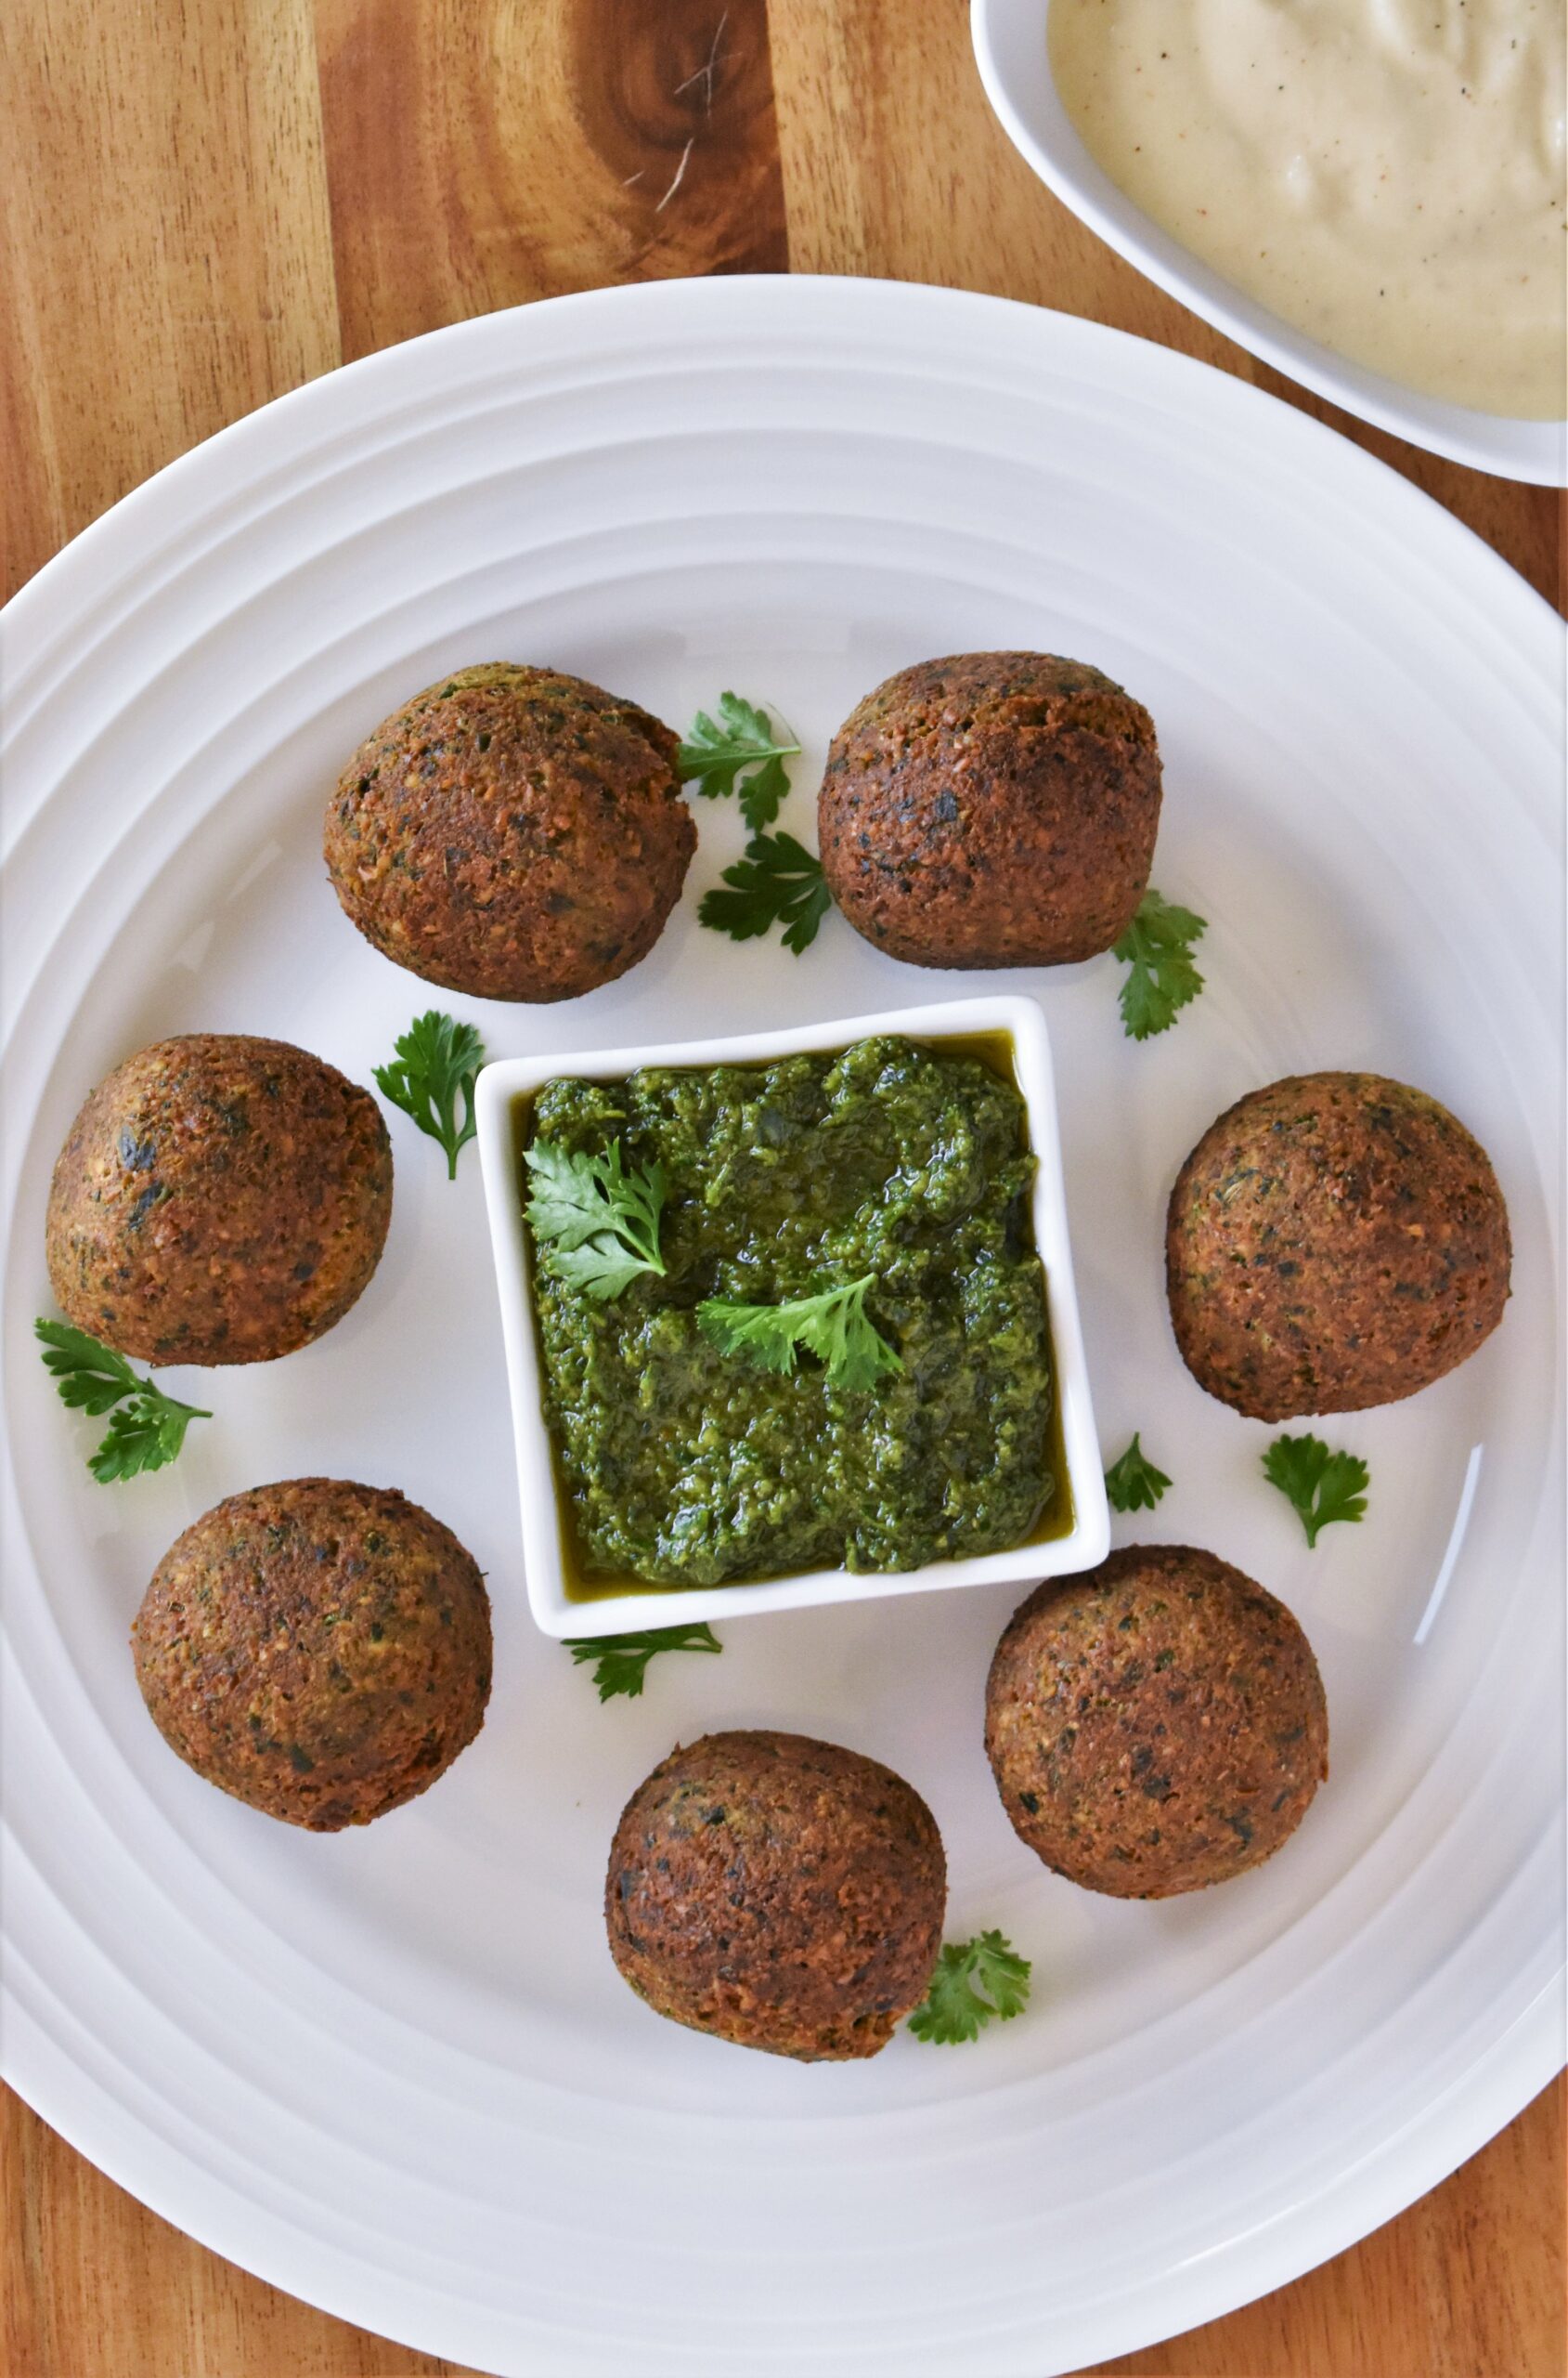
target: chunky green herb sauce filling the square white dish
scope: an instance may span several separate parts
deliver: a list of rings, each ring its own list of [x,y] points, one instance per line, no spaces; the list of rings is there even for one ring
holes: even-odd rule
[[[670,1184],[663,1279],[594,1303],[532,1251],[582,1586],[915,1569],[1036,1529],[1057,1489],[1024,1120],[976,1056],[891,1034],[544,1084],[527,1139],[620,1139],[627,1165],[658,1160]],[[722,1355],[696,1325],[706,1296],[782,1303],[865,1272],[903,1370],[862,1394],[813,1355],[789,1377]]]

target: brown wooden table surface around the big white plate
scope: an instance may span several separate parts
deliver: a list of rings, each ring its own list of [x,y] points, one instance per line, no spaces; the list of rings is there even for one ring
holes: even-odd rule
[[[1366,430],[1121,264],[1014,157],[962,0],[7,0],[7,592],[159,464],[492,307],[715,271],[881,273],[1183,347],[1385,457],[1537,587],[1551,495]],[[411,2378],[5,2105],[7,2378]],[[1563,2097],[1143,2378],[1558,2378]],[[969,2378],[969,2373],[955,2373]],[[998,2373],[1022,2378],[1022,2373]]]

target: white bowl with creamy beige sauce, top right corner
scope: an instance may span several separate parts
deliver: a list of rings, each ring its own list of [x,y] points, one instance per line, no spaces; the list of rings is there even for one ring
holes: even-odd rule
[[[972,0],[1007,136],[1164,290],[1378,428],[1568,478],[1563,0]]]

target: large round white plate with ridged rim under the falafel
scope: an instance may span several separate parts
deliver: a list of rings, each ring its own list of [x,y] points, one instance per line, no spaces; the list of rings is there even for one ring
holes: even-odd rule
[[[734,685],[805,742],[903,661],[1038,644],[1155,711],[1155,880],[1209,989],[1147,1046],[1117,965],[1048,1008],[1107,1453],[1302,1615],[1333,1776],[1269,1867],[1119,1905],[1014,1841],[981,1755],[1012,1589],[758,1617],[601,1707],[527,1619],[480,1175],[392,1118],[354,1313],[204,1372],[181,1465],[83,1474],[29,1336],[50,1160],[162,1032],[299,1039],[368,1080],[430,1004],[318,858],[342,756],[461,661],[565,663],[684,723]],[[1347,2245],[1558,2059],[1558,682],[1544,606],[1300,414],[1083,321],[922,288],[703,281],[570,297],[335,373],[178,461],[7,621],[7,2071],[171,2221],[297,2295],[530,2378],[1074,2368]],[[736,851],[698,806],[653,956],[497,1053],[813,1023],[976,989],[829,918],[803,958],[696,925]],[[1171,1175],[1243,1089],[1373,1065],[1497,1160],[1518,1294],[1414,1403],[1330,1424],[1364,1527],[1307,1553],[1266,1429],[1186,1377]],[[190,1374],[171,1372],[171,1384]],[[1473,1451],[1480,1448],[1480,1451]],[[190,1776],[126,1627],[221,1493],[404,1486],[489,1572],[497,1691],[442,1784],[311,1838]],[[1473,1489],[1473,1491],[1471,1491]],[[1459,1522],[1466,1522],[1463,1527]],[[791,2066],[651,2017],[611,1969],[615,1814],[672,1741],[777,1724],[929,1795],[950,1931],[1036,1959],[1029,2017]]]

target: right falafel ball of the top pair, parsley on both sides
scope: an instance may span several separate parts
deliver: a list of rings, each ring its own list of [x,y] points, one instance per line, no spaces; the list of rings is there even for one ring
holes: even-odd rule
[[[1150,880],[1155,721],[1083,661],[965,652],[900,668],[834,735],[827,887],[912,965],[1067,965],[1109,949]]]

